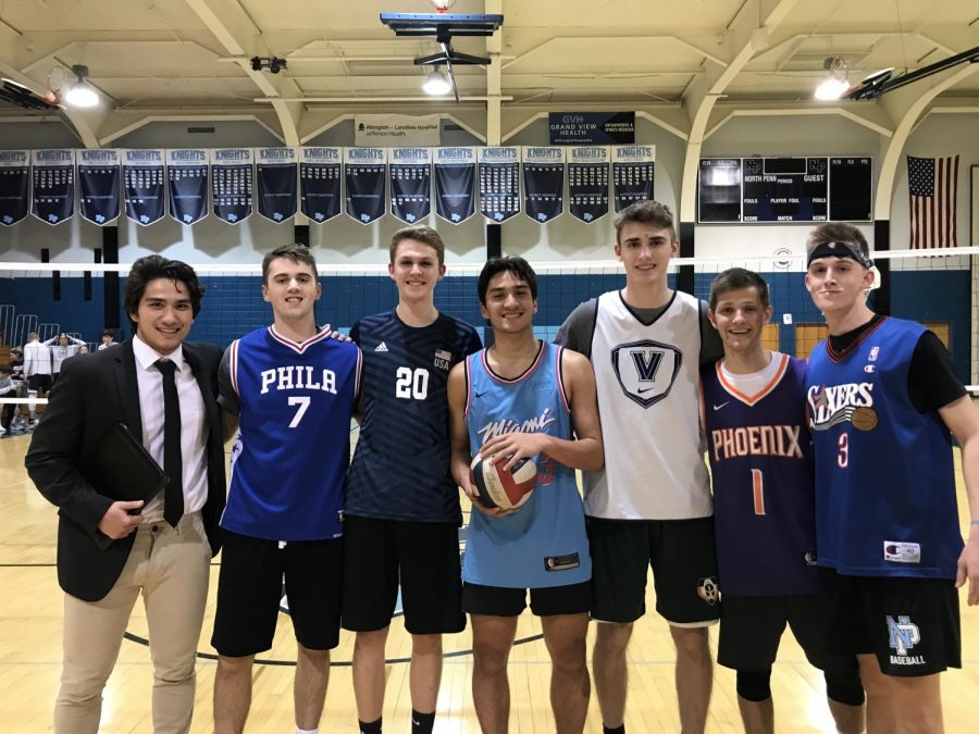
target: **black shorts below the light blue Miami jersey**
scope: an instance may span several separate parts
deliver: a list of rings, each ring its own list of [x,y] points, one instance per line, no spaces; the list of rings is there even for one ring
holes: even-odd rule
[[[470,614],[519,617],[526,609],[525,588],[462,584],[462,608]],[[542,586],[530,589],[531,611],[536,617],[586,614],[592,601],[592,582],[569,586]]]

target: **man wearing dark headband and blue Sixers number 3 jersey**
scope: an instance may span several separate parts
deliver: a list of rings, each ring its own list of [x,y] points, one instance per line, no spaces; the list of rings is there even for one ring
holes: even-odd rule
[[[934,334],[867,307],[859,229],[822,224],[806,250],[829,326],[806,375],[829,640],[858,656],[870,734],[940,732],[939,673],[962,664],[955,588],[968,580],[979,604],[979,413]],[[972,518],[965,547],[950,431]]]

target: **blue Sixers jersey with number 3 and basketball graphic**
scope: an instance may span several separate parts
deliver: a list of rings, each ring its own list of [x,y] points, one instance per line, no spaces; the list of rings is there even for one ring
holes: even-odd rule
[[[809,357],[819,564],[857,576],[955,579],[962,552],[949,430],[907,376],[925,327],[882,319]]]

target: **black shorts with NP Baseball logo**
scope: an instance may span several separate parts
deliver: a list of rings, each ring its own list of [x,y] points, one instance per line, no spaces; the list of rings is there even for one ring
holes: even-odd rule
[[[819,569],[834,649],[877,656],[888,675],[962,668],[958,592],[945,579],[846,576]]]

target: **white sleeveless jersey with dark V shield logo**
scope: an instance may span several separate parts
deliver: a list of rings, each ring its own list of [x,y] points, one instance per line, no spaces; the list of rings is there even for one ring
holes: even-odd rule
[[[687,520],[714,512],[701,432],[699,301],[676,291],[648,326],[619,291],[598,298],[592,364],[605,469],[585,472],[585,514]]]

